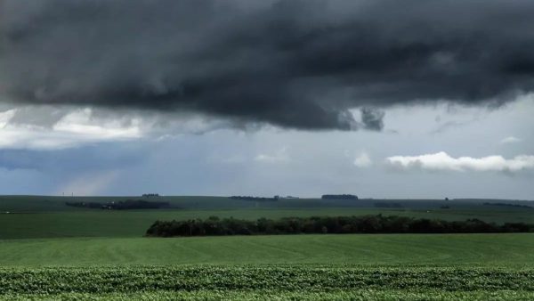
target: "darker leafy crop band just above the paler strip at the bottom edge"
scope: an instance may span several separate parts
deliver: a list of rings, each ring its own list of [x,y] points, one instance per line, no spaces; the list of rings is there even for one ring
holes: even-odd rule
[[[256,289],[534,292],[534,270],[328,265],[0,269],[0,295]]]

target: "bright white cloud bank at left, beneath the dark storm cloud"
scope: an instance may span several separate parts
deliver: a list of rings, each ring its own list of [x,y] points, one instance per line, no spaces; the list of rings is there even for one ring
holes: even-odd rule
[[[229,120],[175,112],[0,106],[0,149],[59,150],[143,137],[164,141],[235,126]]]

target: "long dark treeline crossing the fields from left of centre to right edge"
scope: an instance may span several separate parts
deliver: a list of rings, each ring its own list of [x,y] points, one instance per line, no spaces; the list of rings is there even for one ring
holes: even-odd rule
[[[261,235],[312,233],[491,233],[532,232],[534,226],[522,223],[490,224],[478,219],[448,222],[404,216],[313,216],[279,220],[260,218],[248,221],[211,216],[206,220],[156,221],[147,236]]]

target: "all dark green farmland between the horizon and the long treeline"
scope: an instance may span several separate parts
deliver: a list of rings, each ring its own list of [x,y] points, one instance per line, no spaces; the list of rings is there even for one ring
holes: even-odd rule
[[[180,209],[101,210],[65,206],[68,197],[0,197],[0,240],[60,237],[142,237],[156,220],[184,220],[209,216],[277,219],[288,216],[413,216],[443,220],[479,218],[486,222],[534,224],[534,209],[481,206],[480,201],[387,200],[403,202],[401,209],[373,207],[384,200],[287,199],[279,202],[233,200],[222,197],[161,197]],[[81,198],[75,198],[77,201]],[[83,201],[134,199],[95,197]],[[142,199],[142,198],[139,198]],[[150,198],[148,198],[150,199]],[[320,204],[319,207],[310,207]],[[348,204],[348,205],[347,205]],[[441,208],[447,204],[449,208]],[[281,207],[272,207],[280,205]],[[289,206],[295,207],[289,207]],[[328,206],[327,206],[328,205]],[[335,206],[349,207],[335,207]],[[242,206],[242,207],[239,207]],[[367,206],[367,207],[363,207]],[[5,212],[9,212],[6,214]]]

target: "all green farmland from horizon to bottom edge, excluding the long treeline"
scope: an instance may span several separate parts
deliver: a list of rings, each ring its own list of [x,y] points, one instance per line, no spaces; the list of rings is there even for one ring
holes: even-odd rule
[[[113,211],[65,206],[72,198],[0,197],[0,299],[534,299],[534,233],[143,237],[158,219],[383,214],[534,223],[529,208],[167,199],[174,208]]]

